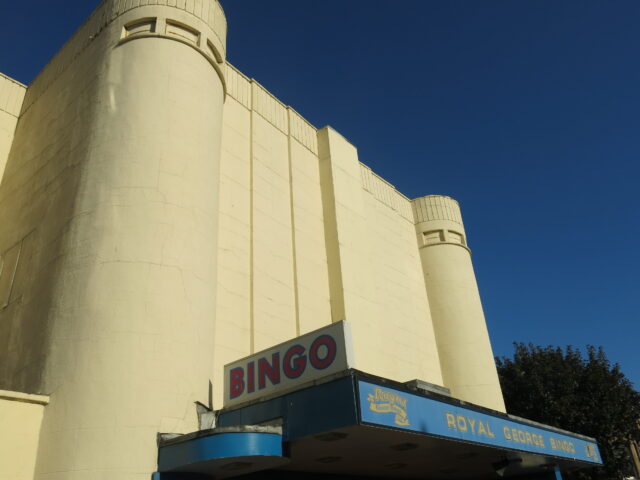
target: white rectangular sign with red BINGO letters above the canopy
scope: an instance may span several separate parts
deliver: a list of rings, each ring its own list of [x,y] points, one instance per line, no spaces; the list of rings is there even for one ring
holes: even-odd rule
[[[342,321],[224,366],[224,407],[291,390],[353,367]]]

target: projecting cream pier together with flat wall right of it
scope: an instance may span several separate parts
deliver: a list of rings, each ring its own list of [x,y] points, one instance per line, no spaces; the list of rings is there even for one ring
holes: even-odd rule
[[[356,367],[442,385],[409,201],[340,134],[318,139],[332,314],[352,325]]]

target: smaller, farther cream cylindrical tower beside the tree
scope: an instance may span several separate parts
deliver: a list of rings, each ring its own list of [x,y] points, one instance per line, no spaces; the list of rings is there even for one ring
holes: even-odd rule
[[[458,202],[412,203],[444,384],[454,397],[505,411]]]

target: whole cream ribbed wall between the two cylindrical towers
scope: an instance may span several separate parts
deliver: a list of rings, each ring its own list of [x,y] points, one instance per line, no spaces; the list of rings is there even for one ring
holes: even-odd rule
[[[214,372],[346,318],[358,368],[442,384],[410,201],[230,65],[227,85]]]

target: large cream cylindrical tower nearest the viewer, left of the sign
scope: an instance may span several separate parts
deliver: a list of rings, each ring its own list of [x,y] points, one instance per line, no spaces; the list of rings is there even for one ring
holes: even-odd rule
[[[16,231],[37,225],[16,315],[41,323],[15,327],[24,348],[10,376],[51,395],[36,478],[149,480],[157,433],[198,428],[225,37],[217,0],[106,0],[29,88],[10,163],[36,152],[46,166],[7,216]]]

